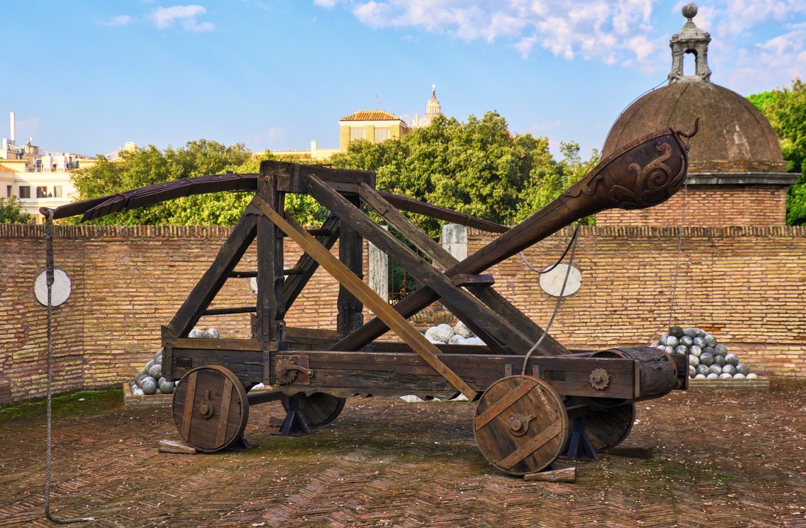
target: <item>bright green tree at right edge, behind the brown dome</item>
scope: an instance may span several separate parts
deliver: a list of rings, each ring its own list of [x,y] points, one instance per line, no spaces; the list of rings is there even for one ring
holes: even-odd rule
[[[748,99],[770,120],[781,142],[787,172],[800,173],[796,184],[787,189],[787,224],[806,225],[806,85],[796,77],[790,88]]]

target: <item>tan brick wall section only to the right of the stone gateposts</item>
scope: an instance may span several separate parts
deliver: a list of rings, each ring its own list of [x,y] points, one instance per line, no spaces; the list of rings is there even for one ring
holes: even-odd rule
[[[468,230],[470,252],[492,236]],[[569,347],[650,343],[667,326],[678,228],[583,227],[580,290],[551,329]],[[525,252],[535,268],[563,252],[571,228]],[[491,268],[496,288],[545,325],[556,297],[519,256]],[[713,332],[754,372],[806,377],[806,227],[684,227],[674,323]]]

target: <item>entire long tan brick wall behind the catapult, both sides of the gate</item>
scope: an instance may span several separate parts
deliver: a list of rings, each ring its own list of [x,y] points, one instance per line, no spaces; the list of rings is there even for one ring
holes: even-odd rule
[[[130,377],[160,343],[167,324],[209,266],[228,227],[57,226],[56,267],[73,293],[56,307],[56,390],[110,385]],[[570,229],[526,255],[547,264]],[[666,325],[678,231],[587,227],[575,265],[582,288],[569,297],[552,331],[570,347],[646,343]],[[41,396],[45,382],[45,309],[33,282],[44,271],[39,226],[0,225],[0,394]],[[469,251],[492,239],[469,230]],[[334,248],[334,252],[337,249]],[[285,264],[299,256],[287,243]],[[254,269],[253,250],[239,269]],[[367,273],[364,264],[364,273]],[[496,288],[545,324],[554,297],[519,257],[492,269]],[[760,372],[806,376],[806,228],[683,230],[675,321],[717,333]],[[337,283],[319,270],[289,311],[289,326],[333,328]],[[248,279],[231,279],[212,307],[254,301]],[[207,317],[202,328],[247,337],[248,314]]]

